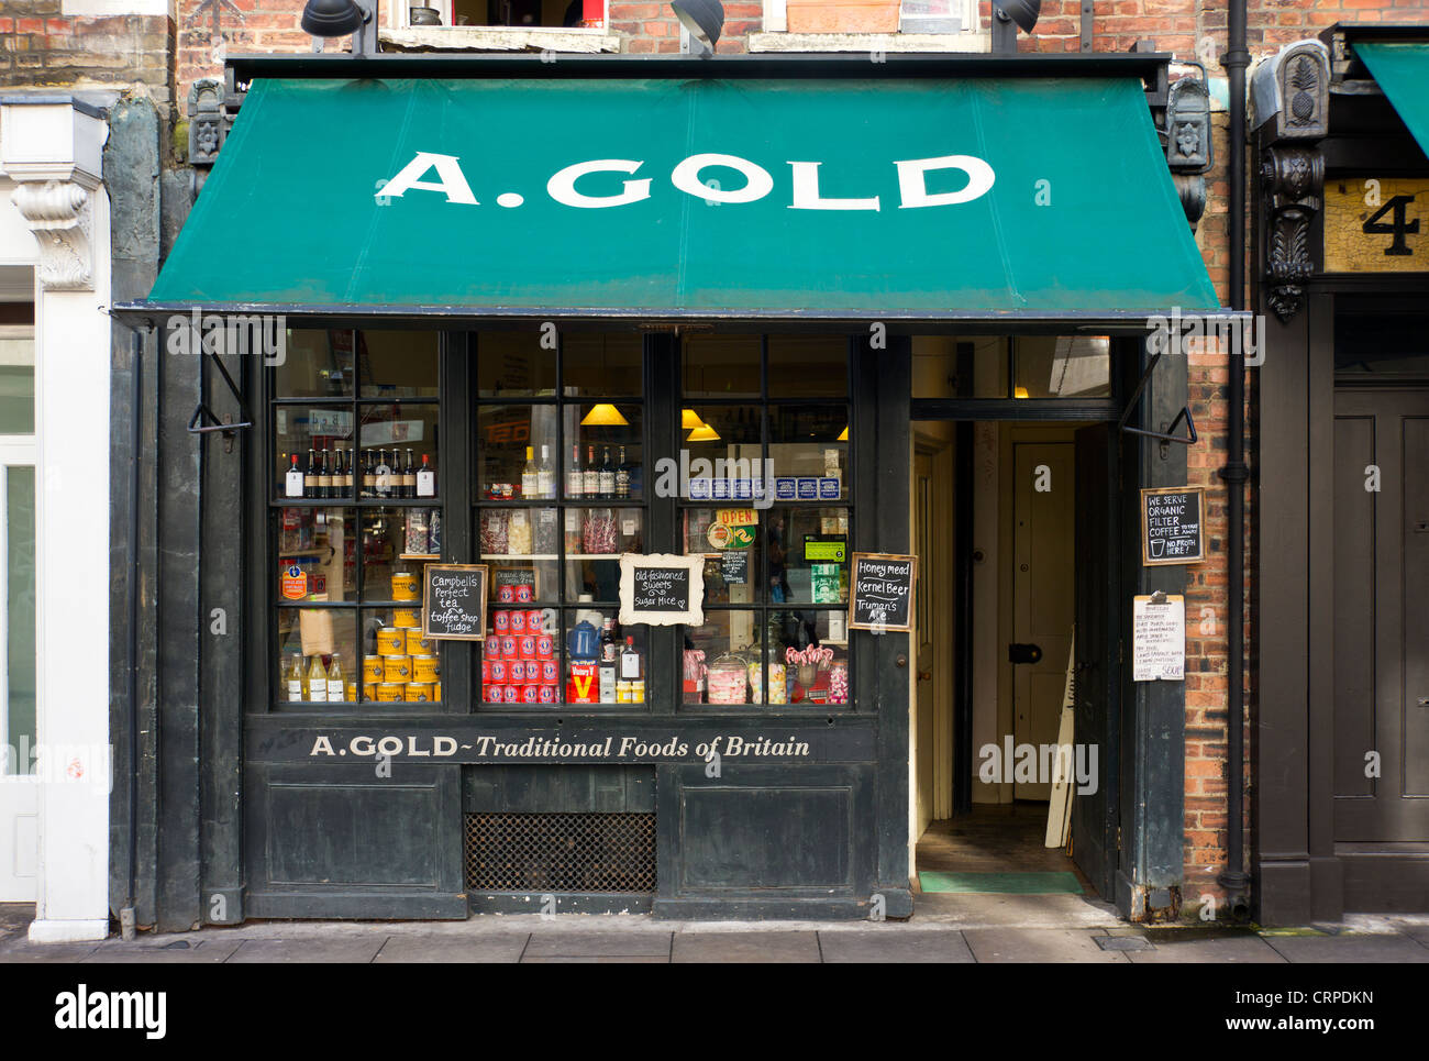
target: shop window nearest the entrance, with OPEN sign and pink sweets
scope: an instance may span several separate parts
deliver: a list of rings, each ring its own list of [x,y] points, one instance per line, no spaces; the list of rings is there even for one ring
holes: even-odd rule
[[[720,400],[707,353],[753,400]],[[693,336],[682,380],[679,548],[704,558],[684,705],[847,705],[847,339]]]

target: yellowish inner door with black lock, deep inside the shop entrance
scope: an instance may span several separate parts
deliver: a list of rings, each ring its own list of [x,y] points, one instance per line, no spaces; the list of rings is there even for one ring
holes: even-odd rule
[[[1013,492],[1013,638],[1036,662],[1013,666],[1013,741],[1055,745],[1072,648],[1076,478],[1070,442],[1019,442]],[[1017,781],[1016,799],[1047,799],[1052,779]]]

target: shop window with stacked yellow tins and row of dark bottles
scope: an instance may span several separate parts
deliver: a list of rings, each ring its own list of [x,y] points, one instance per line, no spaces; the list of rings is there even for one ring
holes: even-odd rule
[[[283,708],[423,709],[422,566],[442,552],[434,333],[287,332],[270,370],[272,659]]]

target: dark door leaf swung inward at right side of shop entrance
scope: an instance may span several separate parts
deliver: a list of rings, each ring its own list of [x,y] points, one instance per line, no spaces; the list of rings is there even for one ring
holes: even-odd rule
[[[1113,428],[1076,433],[1076,668],[1073,734],[1096,745],[1096,791],[1072,796],[1072,859],[1103,899],[1113,895],[1117,859],[1120,756],[1120,612],[1117,572],[1117,450]],[[1063,656],[1065,659],[1066,656]]]

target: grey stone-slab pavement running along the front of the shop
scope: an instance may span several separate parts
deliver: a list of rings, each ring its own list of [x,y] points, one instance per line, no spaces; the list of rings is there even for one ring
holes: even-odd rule
[[[1129,925],[1077,897],[976,897],[912,921],[717,921],[483,915],[467,921],[254,921],[233,928],[30,944],[33,907],[0,905],[14,962],[1426,962],[1429,915],[1303,928]],[[1062,897],[1057,897],[1059,899]],[[1079,909],[1082,904],[1090,909]]]

